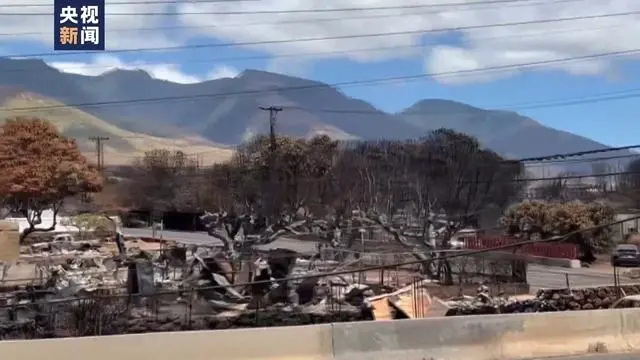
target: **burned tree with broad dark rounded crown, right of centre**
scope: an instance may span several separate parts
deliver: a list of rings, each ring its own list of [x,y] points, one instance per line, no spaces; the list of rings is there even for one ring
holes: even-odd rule
[[[474,138],[447,129],[417,142],[363,142],[348,154],[359,179],[352,187],[360,189],[351,202],[425,264],[434,264],[429,260],[439,254],[435,250],[448,249],[458,230],[478,226],[483,211],[505,207],[521,185],[517,161],[506,161]],[[344,181],[353,181],[353,175]],[[430,268],[450,279],[446,261],[437,270]]]

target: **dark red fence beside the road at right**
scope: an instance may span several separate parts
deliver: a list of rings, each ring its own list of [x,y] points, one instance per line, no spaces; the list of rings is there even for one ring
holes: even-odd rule
[[[467,249],[476,250],[511,245],[520,241],[522,240],[502,236],[464,239],[465,247]],[[575,244],[533,243],[522,245],[518,248],[518,252],[531,256],[543,256],[549,258],[578,258],[578,247]]]

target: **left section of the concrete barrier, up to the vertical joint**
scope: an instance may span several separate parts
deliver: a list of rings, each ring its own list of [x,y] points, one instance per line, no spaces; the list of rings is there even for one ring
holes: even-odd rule
[[[1,341],[2,359],[330,360],[331,325]]]

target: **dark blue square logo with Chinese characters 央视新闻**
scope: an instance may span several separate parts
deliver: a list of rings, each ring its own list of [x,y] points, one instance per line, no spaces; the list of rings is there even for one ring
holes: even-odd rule
[[[54,50],[104,50],[104,0],[55,0]]]

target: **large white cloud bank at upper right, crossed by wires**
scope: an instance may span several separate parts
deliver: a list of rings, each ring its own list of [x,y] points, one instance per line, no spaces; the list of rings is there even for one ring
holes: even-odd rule
[[[462,2],[472,4],[476,1],[467,0]],[[451,3],[451,1],[437,0],[430,3]],[[456,1],[456,3],[460,3],[460,1]],[[640,11],[640,3],[637,0],[569,0],[564,2],[539,0],[531,1],[528,4],[518,3],[515,5],[476,4],[472,7],[380,10],[357,13],[206,14],[213,11],[278,11],[415,4],[415,0],[262,0],[242,3],[185,3],[179,8],[183,12],[181,16],[182,22],[190,25],[200,25],[200,34],[234,42],[278,41],[291,38],[468,28],[469,26],[485,26],[498,23],[535,22],[554,18]],[[473,11],[470,11],[470,9]],[[403,16],[388,16],[390,14]],[[353,19],[354,17],[360,17],[360,19]],[[302,22],[304,19],[312,18],[340,18],[341,20],[324,22],[309,20]],[[211,24],[216,26],[212,27]],[[245,24],[245,26],[237,26],[237,24]],[[462,44],[458,47],[444,46],[447,44],[443,41],[442,33],[433,34],[426,39],[433,48],[427,51],[425,70],[429,73],[473,70],[635,49],[640,48],[640,37],[637,36],[639,32],[640,16],[636,14],[452,31],[451,33],[458,35],[462,39]],[[259,48],[272,54],[316,52],[316,58],[347,57],[364,62],[415,56],[421,41],[424,40],[424,36],[419,33],[409,33],[383,37],[272,43],[254,46],[254,48]],[[415,46],[414,51],[388,49],[375,53],[326,53],[344,52],[354,48],[388,48],[412,45]],[[425,46],[425,48],[428,49],[429,45]],[[596,75],[610,70],[611,63],[611,59],[576,61],[544,66],[544,69],[561,70],[575,75]],[[473,76],[444,76],[437,79],[445,83],[487,81],[495,77],[508,76],[517,71],[517,69],[513,69],[511,71],[495,71],[490,74],[476,74]]]

